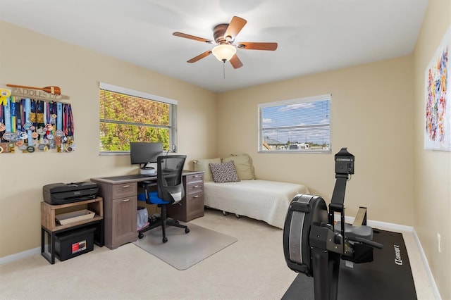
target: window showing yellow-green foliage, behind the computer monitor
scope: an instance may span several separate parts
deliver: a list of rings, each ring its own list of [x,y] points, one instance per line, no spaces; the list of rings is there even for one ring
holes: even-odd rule
[[[128,154],[130,142],[177,149],[177,101],[100,83],[100,154]]]

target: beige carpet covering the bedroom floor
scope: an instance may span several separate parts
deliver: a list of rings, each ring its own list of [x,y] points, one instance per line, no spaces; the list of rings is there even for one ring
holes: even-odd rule
[[[183,271],[134,244],[94,246],[54,265],[35,254],[0,265],[0,299],[281,299],[295,280],[283,256],[283,230],[212,210],[189,224],[238,241]],[[414,237],[403,236],[418,299],[433,299]]]

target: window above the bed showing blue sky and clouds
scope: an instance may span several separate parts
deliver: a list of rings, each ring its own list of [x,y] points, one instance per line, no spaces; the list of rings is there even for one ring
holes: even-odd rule
[[[259,104],[259,152],[330,153],[330,94]]]

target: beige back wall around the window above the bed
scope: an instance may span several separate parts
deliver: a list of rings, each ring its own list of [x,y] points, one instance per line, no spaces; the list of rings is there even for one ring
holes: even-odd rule
[[[413,225],[412,56],[240,89],[218,98],[218,154],[246,152],[259,179],[299,182],[330,201],[333,156],[356,157],[347,215]],[[332,94],[332,154],[257,153],[257,104]]]

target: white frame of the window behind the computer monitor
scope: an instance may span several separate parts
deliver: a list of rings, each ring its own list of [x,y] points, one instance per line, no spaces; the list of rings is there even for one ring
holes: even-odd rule
[[[178,106],[178,101],[174,100],[174,99],[169,99],[163,96],[158,96],[158,95],[154,95],[154,94],[149,94],[147,92],[140,92],[140,91],[136,91],[134,89],[128,89],[126,87],[118,87],[116,85],[110,85],[108,83],[105,82],[99,82],[99,101],[100,101],[100,92],[101,90],[106,90],[109,92],[114,92],[114,93],[118,93],[118,94],[125,94],[128,96],[134,96],[134,97],[139,97],[141,99],[147,99],[149,101],[154,101],[154,102],[160,102],[163,104],[168,104],[169,105],[169,126],[167,127],[169,130],[169,147],[170,149],[163,149],[164,152],[168,152],[168,153],[176,153],[177,152],[177,123],[178,123],[178,118],[177,118],[177,106]],[[100,105],[100,104],[99,104]],[[100,110],[99,110],[99,128],[100,128],[100,124],[102,122],[101,115],[100,115]],[[121,121],[119,122],[115,122],[115,123],[121,123]],[[138,124],[138,123],[136,123]],[[159,125],[156,125],[155,127],[161,127]],[[166,127],[164,127],[166,128]],[[109,155],[128,155],[130,154],[130,150],[129,151],[101,151],[100,149],[100,144],[101,144],[101,132],[99,130],[99,155],[101,156],[109,156]],[[140,141],[136,141],[136,142],[140,142]]]

